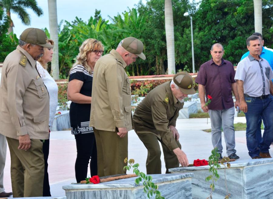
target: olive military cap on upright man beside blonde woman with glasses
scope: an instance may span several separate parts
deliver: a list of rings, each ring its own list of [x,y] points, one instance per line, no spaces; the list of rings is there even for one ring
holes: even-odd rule
[[[134,37],[127,37],[123,39],[123,43],[121,44],[121,46],[130,53],[139,56],[141,59],[146,59],[145,55],[142,52],[144,48],[143,43],[139,39]]]

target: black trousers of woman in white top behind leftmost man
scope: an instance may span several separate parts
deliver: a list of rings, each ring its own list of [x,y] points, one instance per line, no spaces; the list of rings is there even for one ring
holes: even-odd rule
[[[44,176],[44,186],[43,186],[43,197],[45,196],[51,196],[50,194],[50,187],[49,187],[49,179],[48,179],[48,155],[49,155],[49,139],[45,140],[43,142],[43,153],[44,153],[44,159],[45,159],[45,176]]]

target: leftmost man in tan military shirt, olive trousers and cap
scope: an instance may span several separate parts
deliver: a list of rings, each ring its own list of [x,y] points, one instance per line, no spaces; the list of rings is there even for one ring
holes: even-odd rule
[[[27,28],[5,58],[0,88],[0,133],[11,156],[13,197],[43,194],[42,140],[49,138],[49,95],[36,69],[47,44],[45,32]]]

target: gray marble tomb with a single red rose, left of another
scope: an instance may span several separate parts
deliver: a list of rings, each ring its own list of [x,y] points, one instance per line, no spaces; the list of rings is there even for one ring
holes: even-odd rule
[[[191,177],[186,174],[153,174],[153,183],[165,199],[192,199]],[[99,184],[71,184],[62,188],[66,191],[67,199],[146,199],[143,183],[135,184],[136,177],[104,182]],[[154,198],[154,197],[151,197]]]

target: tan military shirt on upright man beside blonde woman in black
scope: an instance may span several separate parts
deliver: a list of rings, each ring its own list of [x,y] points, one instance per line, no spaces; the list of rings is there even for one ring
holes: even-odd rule
[[[126,63],[112,49],[94,68],[90,126],[103,131],[126,127],[132,130],[131,86]]]

